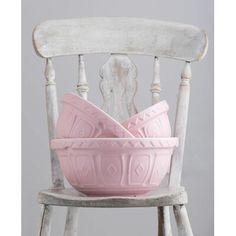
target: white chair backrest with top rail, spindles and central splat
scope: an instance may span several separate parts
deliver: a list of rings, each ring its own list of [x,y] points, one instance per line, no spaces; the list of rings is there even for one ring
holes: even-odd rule
[[[46,58],[46,101],[49,139],[54,138],[58,117],[55,71],[52,57],[78,55],[79,79],[77,91],[87,99],[84,54],[110,53],[100,70],[100,90],[103,109],[121,121],[137,112],[134,96],[137,90],[137,70],[127,54],[150,55],[154,58],[154,76],[151,84],[152,103],[160,99],[160,57],[185,61],[181,74],[173,135],[179,138],[179,147],[172,156],[169,185],[181,181],[184,143],[190,94],[190,63],[201,60],[207,51],[206,33],[191,25],[161,22],[141,18],[79,18],[50,20],[38,25],[33,32],[36,53]],[[51,154],[52,183],[64,187],[57,156]]]

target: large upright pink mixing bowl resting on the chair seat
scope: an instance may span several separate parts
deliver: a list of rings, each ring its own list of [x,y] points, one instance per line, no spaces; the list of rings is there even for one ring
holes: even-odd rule
[[[87,195],[138,195],[154,190],[170,168],[177,138],[54,139],[69,183]]]

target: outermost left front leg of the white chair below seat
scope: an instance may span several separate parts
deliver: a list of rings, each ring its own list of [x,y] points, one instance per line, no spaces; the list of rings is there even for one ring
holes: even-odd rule
[[[49,205],[42,205],[39,236],[50,236],[52,222],[52,207]]]

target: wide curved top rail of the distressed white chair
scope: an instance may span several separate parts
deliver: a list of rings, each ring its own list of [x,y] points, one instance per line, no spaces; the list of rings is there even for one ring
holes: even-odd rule
[[[184,61],[203,58],[206,33],[195,26],[140,18],[49,20],[33,33],[38,55],[146,54]]]

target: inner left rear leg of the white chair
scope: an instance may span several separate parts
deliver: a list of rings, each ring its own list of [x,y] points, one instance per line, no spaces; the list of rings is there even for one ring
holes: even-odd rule
[[[68,207],[64,236],[77,236],[78,235],[78,207]]]

